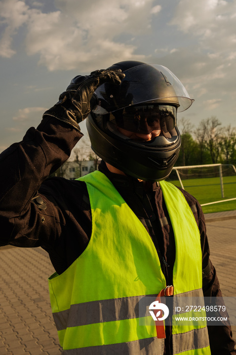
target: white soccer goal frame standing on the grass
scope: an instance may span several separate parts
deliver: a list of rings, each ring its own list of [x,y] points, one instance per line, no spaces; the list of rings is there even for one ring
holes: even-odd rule
[[[201,177],[203,175],[206,177],[207,175],[210,176],[210,175],[216,173],[216,170],[215,170],[215,172],[212,171],[213,167],[215,167],[215,169],[218,169],[218,176],[220,177],[220,186],[221,186],[221,197],[224,198],[224,184],[223,184],[222,168],[231,167],[231,171],[234,171],[236,173],[236,168],[235,168],[234,165],[232,165],[232,164],[204,164],[204,165],[174,166],[173,170],[176,171],[176,174],[178,176],[180,185],[181,185],[182,189],[184,190],[183,181],[182,181],[183,177],[181,179],[180,171],[182,171],[182,170],[191,171],[190,174],[189,173],[184,174],[183,172],[181,172],[181,175],[184,176],[185,178],[186,177],[187,178],[193,177],[193,175],[194,175],[194,177],[197,177],[199,175],[201,175]],[[207,172],[206,168],[211,168],[210,169],[211,171]],[[204,173],[203,173],[203,169],[205,170]],[[193,172],[193,170],[195,170],[195,172]],[[236,197],[235,198],[230,198],[230,199],[227,199],[227,200],[220,200],[220,201],[215,201],[215,202],[204,203],[204,204],[202,204],[202,206],[205,206],[205,205],[208,205],[208,204],[213,204],[213,203],[232,201],[232,200],[236,200]]]

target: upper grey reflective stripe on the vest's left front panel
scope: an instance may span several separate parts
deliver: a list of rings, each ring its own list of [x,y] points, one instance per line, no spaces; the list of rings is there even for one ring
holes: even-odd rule
[[[71,304],[70,309],[53,313],[57,330],[94,323],[121,321],[144,317],[146,306],[156,295],[115,298]]]

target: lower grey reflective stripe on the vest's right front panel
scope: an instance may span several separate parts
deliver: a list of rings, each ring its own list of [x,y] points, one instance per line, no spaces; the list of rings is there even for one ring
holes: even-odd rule
[[[209,346],[207,327],[193,329],[186,333],[173,334],[173,354]]]

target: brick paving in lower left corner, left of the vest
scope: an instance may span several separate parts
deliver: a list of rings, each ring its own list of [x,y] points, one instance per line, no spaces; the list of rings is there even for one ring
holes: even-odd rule
[[[41,248],[1,248],[0,354],[61,354],[47,278],[54,272]]]

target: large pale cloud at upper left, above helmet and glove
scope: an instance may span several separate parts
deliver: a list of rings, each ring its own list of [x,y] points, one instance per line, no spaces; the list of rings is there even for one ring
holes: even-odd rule
[[[40,55],[40,64],[49,70],[80,69],[81,72],[111,65],[120,60],[143,60],[135,53],[137,47],[119,41],[122,34],[145,34],[150,31],[151,14],[161,11],[154,0],[55,0],[57,11],[43,13],[38,2],[31,8],[24,1],[4,0],[0,7],[7,34],[2,38],[2,56],[11,57],[11,47],[17,28],[25,25],[26,51]],[[33,7],[34,4],[34,7]],[[14,8],[13,13],[11,9]]]

